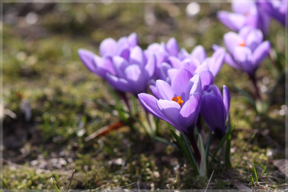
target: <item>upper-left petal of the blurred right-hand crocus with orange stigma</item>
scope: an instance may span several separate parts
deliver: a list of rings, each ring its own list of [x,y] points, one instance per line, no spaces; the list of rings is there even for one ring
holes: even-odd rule
[[[233,53],[233,50],[236,46],[239,46],[241,43],[245,42],[240,35],[232,31],[225,33],[223,40],[230,53]]]

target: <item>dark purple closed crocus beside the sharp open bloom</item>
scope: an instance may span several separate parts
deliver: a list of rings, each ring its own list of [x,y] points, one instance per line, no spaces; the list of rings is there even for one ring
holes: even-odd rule
[[[230,93],[223,85],[223,96],[219,88],[210,85],[202,94],[201,117],[209,128],[221,139],[226,132],[226,119],[230,107]]]

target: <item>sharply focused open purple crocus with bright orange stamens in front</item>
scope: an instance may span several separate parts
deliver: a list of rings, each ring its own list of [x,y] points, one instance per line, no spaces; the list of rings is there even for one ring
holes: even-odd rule
[[[138,94],[143,107],[152,115],[173,125],[180,132],[192,134],[201,107],[201,79],[185,68],[177,71],[171,85],[163,80],[156,81],[157,98]]]

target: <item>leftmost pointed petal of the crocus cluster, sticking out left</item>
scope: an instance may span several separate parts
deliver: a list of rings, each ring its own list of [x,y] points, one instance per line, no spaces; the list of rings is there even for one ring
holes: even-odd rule
[[[78,50],[78,56],[82,63],[93,73],[96,73],[97,66],[94,63],[94,57],[96,56],[93,52],[85,50],[85,49],[79,49]]]

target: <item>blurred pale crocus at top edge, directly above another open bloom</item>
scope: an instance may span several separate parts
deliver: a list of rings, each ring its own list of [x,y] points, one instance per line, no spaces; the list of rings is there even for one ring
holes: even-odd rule
[[[264,34],[268,32],[269,17],[260,11],[256,3],[249,1],[232,1],[232,11],[219,11],[218,19],[233,31],[238,32],[243,26],[260,29]]]

